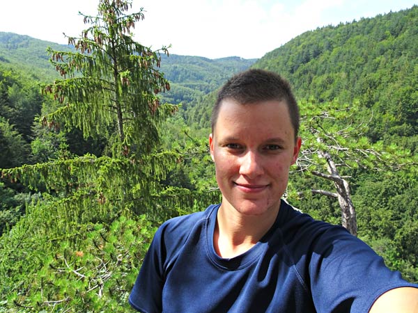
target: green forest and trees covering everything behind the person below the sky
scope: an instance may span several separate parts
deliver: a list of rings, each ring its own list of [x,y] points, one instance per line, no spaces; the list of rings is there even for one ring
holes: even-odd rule
[[[117,3],[123,18],[100,0],[70,46],[0,32],[0,312],[130,310],[155,227],[219,201],[210,112],[249,67],[282,74],[300,102],[288,200],[355,222],[418,282],[418,6],[308,31],[260,60],[210,60],[132,42],[144,13]],[[115,40],[117,65],[100,54]]]

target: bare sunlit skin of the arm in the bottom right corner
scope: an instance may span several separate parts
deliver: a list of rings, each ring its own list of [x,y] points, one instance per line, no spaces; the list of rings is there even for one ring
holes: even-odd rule
[[[369,313],[418,313],[418,288],[400,287],[382,294]]]

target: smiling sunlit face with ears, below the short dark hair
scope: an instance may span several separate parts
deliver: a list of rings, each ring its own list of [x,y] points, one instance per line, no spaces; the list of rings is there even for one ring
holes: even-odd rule
[[[224,99],[209,145],[222,207],[246,216],[277,214],[301,145],[286,103]]]

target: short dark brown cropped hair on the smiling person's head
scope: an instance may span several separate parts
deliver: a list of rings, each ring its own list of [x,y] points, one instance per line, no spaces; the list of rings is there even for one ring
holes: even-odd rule
[[[212,110],[212,133],[215,129],[222,101],[231,99],[239,104],[254,104],[271,100],[284,101],[288,106],[295,138],[299,132],[299,107],[290,83],[279,74],[266,70],[246,70],[226,81],[219,90]]]

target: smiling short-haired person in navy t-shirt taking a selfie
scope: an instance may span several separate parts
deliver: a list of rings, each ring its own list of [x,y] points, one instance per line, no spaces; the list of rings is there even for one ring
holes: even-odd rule
[[[247,70],[218,93],[222,202],[157,230],[129,297],[144,312],[418,312],[418,286],[341,226],[283,198],[302,140],[289,83]]]

